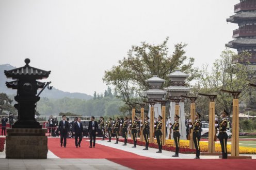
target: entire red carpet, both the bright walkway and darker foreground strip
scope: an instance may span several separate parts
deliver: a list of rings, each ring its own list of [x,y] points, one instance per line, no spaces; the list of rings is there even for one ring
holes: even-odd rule
[[[60,147],[59,138],[48,138],[48,147],[60,158],[108,159],[132,169],[255,169],[255,159],[153,159],[142,157],[123,150],[103,146],[96,143],[89,148],[89,142],[83,139],[81,148],[76,148],[74,139],[67,139],[67,147]],[[120,146],[121,147],[121,146]]]

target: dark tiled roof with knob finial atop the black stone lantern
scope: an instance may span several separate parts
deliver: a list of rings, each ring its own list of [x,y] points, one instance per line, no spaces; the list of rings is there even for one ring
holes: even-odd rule
[[[21,75],[35,75],[37,79],[47,78],[51,71],[44,71],[35,67],[30,67],[28,64],[29,59],[25,60],[26,65],[24,67],[15,68],[12,70],[5,70],[5,75],[7,78],[20,78]]]

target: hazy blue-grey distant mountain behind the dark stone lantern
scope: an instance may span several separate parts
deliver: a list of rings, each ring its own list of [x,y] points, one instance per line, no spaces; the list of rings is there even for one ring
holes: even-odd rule
[[[11,81],[10,79],[7,79],[4,74],[4,70],[11,70],[16,67],[11,66],[10,64],[4,64],[0,65],[0,92],[7,93],[7,95],[15,95],[17,90],[8,89],[5,85],[6,81]],[[58,90],[56,88],[52,88],[52,90],[45,89],[40,97],[46,97],[50,99],[61,99],[61,98],[75,98],[75,99],[85,99],[89,100],[92,99],[92,96],[86,95],[85,93],[79,93],[79,92],[65,92]]]

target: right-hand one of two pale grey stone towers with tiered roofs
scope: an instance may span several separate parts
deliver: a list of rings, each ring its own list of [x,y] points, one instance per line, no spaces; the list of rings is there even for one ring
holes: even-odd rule
[[[185,109],[184,109],[184,100],[181,98],[181,95],[186,96],[186,93],[190,91],[190,88],[185,86],[185,80],[189,77],[188,74],[175,70],[174,72],[167,75],[170,78],[170,86],[166,87],[164,90],[168,92],[168,96],[171,99],[170,103],[170,116],[168,120],[167,128],[167,137],[169,136],[169,122],[174,122],[175,107],[178,106],[178,115],[180,115],[180,139],[186,139],[186,125],[185,125]],[[177,110],[177,109],[176,109]],[[172,134],[171,134],[172,136]]]

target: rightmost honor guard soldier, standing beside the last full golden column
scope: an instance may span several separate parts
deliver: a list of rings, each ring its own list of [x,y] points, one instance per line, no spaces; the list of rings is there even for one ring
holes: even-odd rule
[[[215,127],[219,129],[219,142],[221,145],[221,150],[222,150],[222,159],[227,159],[228,158],[228,153],[227,153],[227,140],[228,140],[228,135],[226,133],[227,126],[228,126],[228,118],[227,116],[229,113],[226,110],[223,110],[220,112],[220,116],[222,118],[222,121],[220,124],[215,124]],[[215,120],[218,120],[218,118],[215,118]]]

